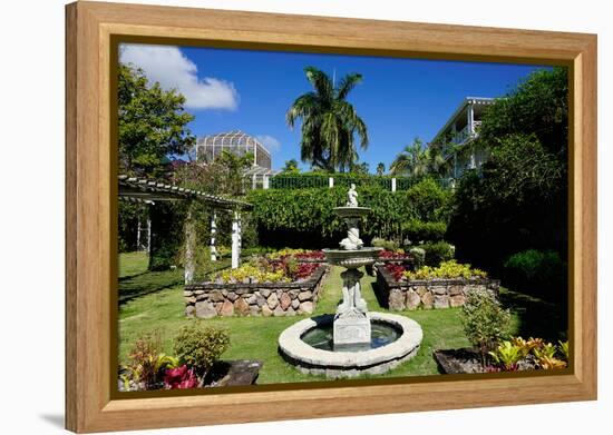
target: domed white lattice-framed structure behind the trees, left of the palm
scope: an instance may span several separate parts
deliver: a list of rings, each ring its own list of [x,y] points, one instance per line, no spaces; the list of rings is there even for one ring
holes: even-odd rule
[[[198,160],[213,161],[224,150],[236,156],[251,152],[253,155],[253,166],[267,170],[272,169],[272,158],[266,147],[256,138],[241,130],[204,136],[196,140],[196,157]]]

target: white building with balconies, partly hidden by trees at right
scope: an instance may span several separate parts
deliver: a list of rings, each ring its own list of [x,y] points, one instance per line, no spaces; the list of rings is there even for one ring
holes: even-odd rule
[[[449,161],[446,178],[461,177],[467,169],[478,169],[487,159],[487,150],[473,148],[461,152],[461,146],[478,135],[484,110],[494,103],[494,98],[466,97],[447,122],[434,137],[431,144],[441,144]]]

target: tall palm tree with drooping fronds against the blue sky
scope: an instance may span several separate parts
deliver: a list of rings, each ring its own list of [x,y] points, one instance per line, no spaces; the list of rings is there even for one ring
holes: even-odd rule
[[[315,168],[344,171],[358,160],[354,136],[359,136],[361,149],[368,147],[366,123],[347,101],[362,76],[347,75],[334,86],[325,72],[314,67],[304,68],[304,72],[313,90],[298,97],[285,115],[290,128],[302,119],[300,157]]]

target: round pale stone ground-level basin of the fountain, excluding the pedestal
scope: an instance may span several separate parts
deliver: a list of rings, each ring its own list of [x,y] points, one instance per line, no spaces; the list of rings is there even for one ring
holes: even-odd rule
[[[285,360],[300,372],[332,379],[380,375],[417,354],[424,336],[417,322],[378,312],[371,312],[369,316],[372,335],[368,346],[335,349],[331,333],[334,316],[322,315],[301,320],[281,333],[279,348]]]

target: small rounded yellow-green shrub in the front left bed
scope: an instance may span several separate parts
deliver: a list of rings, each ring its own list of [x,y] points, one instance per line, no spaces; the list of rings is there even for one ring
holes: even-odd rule
[[[224,329],[194,322],[179,329],[174,349],[181,363],[205,377],[213,364],[230,346],[230,335]]]

